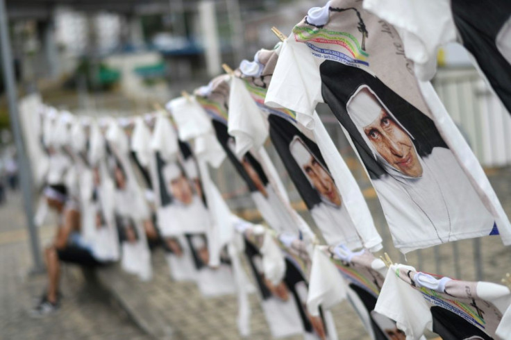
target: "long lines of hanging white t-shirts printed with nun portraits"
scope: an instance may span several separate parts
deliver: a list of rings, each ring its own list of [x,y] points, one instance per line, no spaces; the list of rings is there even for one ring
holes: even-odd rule
[[[382,239],[315,112],[326,103],[340,122],[402,253],[486,235],[511,244],[501,203],[428,83],[437,47],[455,39],[452,29],[475,41],[483,33],[467,28],[470,13],[455,1],[435,4],[447,13],[443,19],[433,17],[433,5],[414,6],[339,0],[312,8],[275,49],[169,101],[166,112],[97,121],[40,105],[40,123],[24,119],[36,175],[67,184],[99,259],[120,259],[126,271],[149,279],[149,246],[160,239],[174,280],[196,282],[204,296],[236,292],[242,334],[249,332],[246,294],[253,289],[240,266],[244,253],[274,337],[335,339],[328,309],[347,299],[372,339],[419,339],[426,329],[443,339],[511,339],[507,287],[401,264],[387,269],[372,255]],[[493,48],[508,71],[504,19],[494,21]],[[428,29],[439,20],[449,29],[433,31],[432,40]],[[506,104],[509,87],[499,84],[510,77],[480,69]],[[290,205],[267,139],[320,235]],[[269,228],[228,209],[228,193],[209,173],[224,160]]]

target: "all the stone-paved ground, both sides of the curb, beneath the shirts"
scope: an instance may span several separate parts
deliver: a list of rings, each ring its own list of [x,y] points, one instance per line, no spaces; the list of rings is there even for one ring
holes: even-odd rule
[[[511,168],[488,171],[488,176],[511,216]],[[378,202],[374,198],[368,201],[376,226],[385,239],[385,250],[396,262],[404,261],[393,250]],[[0,207],[1,340],[149,339],[146,334],[151,334],[153,339],[241,338],[236,328],[235,296],[202,298],[194,284],[173,282],[161,250],[153,253],[154,275],[150,282],[141,282],[123,273],[118,266],[99,271],[99,280],[107,291],[88,289],[81,273],[68,266],[63,275],[65,300],[60,312],[36,321],[28,318],[26,311],[32,305],[31,297],[44,288],[44,276],[26,276],[30,262],[26,235],[20,237],[23,233],[12,228],[16,223],[24,225],[20,207],[19,201]],[[43,238],[50,235],[49,231],[42,230]],[[411,253],[406,260],[423,271],[474,280],[474,244],[474,240],[458,241],[422,250],[421,259],[417,252]],[[499,282],[511,271],[511,247],[504,247],[499,237],[480,239],[479,247],[484,279]],[[455,254],[458,262],[454,260]],[[460,275],[454,275],[456,270]],[[250,300],[252,332],[248,339],[271,339],[258,297],[252,294]],[[337,305],[333,316],[339,339],[369,339],[349,303]]]

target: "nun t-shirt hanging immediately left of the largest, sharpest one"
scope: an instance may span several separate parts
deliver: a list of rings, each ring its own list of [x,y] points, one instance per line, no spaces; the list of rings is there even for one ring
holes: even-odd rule
[[[260,50],[256,53],[253,62],[244,60],[240,65],[242,80],[238,78],[231,80],[228,126],[229,133],[236,138],[236,148],[240,146],[242,150],[245,150],[259,147],[262,145],[261,141],[267,137],[268,129],[271,130],[272,133],[269,134],[271,141],[276,146],[280,159],[287,167],[290,178],[309,207],[312,219],[321,230],[326,242],[346,244],[352,249],[360,248],[363,244],[367,248],[378,250],[381,238],[376,231],[367,203],[321,121],[317,119],[318,126],[314,133],[310,133],[296,123],[295,112],[269,108],[264,104],[277,57],[276,51]],[[258,67],[251,67],[254,65]],[[244,100],[240,101],[240,99]],[[247,101],[251,102],[247,103]],[[317,154],[307,146],[301,149],[308,150],[310,153],[308,159],[313,157],[317,163],[326,163],[321,164],[321,169],[324,169],[321,173],[335,180],[334,189],[342,197],[341,206],[332,205],[328,199],[324,198],[319,201],[318,198],[321,197],[319,189],[313,186],[310,179],[304,180],[308,174],[303,169],[297,171],[296,167],[303,166],[299,162],[303,163],[304,160],[296,160],[301,153],[294,155],[290,151],[291,144],[296,142],[294,139],[299,139],[301,143],[305,143],[303,140],[305,139],[312,146],[319,148],[319,151],[316,151]],[[290,155],[293,157],[289,157]],[[306,153],[305,157],[307,157]],[[318,157],[322,159],[317,160]],[[345,193],[348,196],[345,196]]]

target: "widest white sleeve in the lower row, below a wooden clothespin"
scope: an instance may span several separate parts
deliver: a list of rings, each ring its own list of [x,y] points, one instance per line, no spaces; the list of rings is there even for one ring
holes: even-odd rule
[[[415,271],[403,264],[390,266],[374,310],[396,321],[407,340],[420,339],[426,329],[433,330],[433,316],[422,294],[396,275],[401,268]]]

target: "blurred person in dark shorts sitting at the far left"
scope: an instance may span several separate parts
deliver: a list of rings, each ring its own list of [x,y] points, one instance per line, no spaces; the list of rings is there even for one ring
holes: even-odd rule
[[[58,214],[58,228],[53,244],[44,250],[49,283],[40,303],[32,311],[33,316],[51,313],[59,307],[59,261],[87,267],[101,264],[81,239],[78,203],[68,196],[65,185],[49,185],[44,189],[44,196],[48,206]]]

